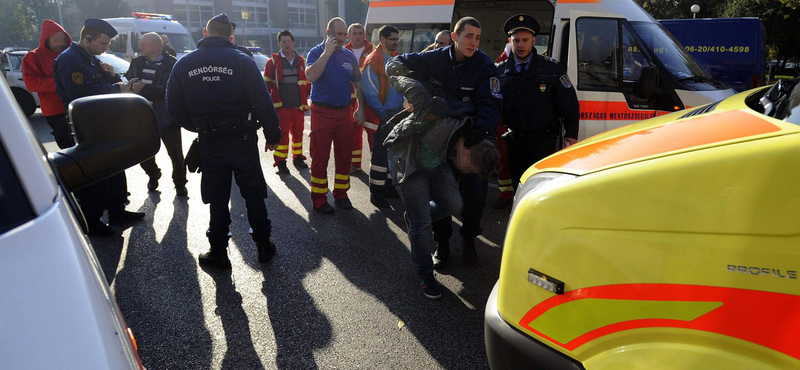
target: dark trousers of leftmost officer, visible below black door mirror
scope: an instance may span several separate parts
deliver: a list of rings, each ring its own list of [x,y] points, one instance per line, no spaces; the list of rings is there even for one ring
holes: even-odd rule
[[[125,210],[125,201],[128,199],[125,172],[78,190],[78,199],[87,222],[99,221],[106,209],[110,218],[120,214]]]

